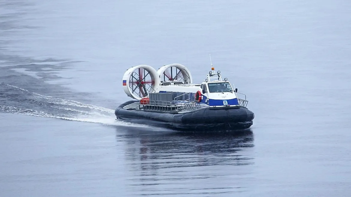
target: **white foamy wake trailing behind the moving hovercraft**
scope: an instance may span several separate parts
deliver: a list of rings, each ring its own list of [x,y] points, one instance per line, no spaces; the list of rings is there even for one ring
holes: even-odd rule
[[[63,120],[80,122],[101,123],[106,125],[145,127],[145,125],[125,123],[115,120],[116,117],[114,115],[113,109],[94,106],[92,104],[86,104],[78,101],[55,98],[52,96],[45,96],[31,92],[24,88],[13,86],[11,84],[2,84],[5,84],[6,86],[11,87],[15,90],[22,91],[25,93],[22,96],[28,99],[23,100],[22,98],[19,98],[19,100],[17,100],[18,97],[4,97],[11,101],[12,104],[4,103],[0,105],[1,112],[38,117],[59,118]],[[25,101],[25,103],[23,103],[23,101]],[[18,105],[13,104],[13,102],[17,102]],[[13,105],[16,105],[16,107],[13,107]]]

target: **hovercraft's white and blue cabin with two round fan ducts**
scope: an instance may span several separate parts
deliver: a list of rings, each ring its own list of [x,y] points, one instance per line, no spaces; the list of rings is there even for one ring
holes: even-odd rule
[[[125,93],[137,100],[148,98],[149,93],[171,93],[173,101],[196,100],[208,107],[239,106],[240,102],[237,89],[222,79],[212,63],[202,83],[193,83],[190,71],[181,64],[168,64],[158,71],[148,65],[131,67],[122,80]]]

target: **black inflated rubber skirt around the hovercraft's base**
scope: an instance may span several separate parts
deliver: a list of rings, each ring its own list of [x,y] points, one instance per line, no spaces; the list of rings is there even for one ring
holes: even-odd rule
[[[243,130],[251,127],[255,116],[246,107],[205,108],[184,114],[123,109],[133,102],[138,101],[127,101],[115,110],[118,120],[177,130]]]

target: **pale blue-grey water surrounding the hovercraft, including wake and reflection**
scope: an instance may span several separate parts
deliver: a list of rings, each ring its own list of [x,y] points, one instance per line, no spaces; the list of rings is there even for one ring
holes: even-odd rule
[[[0,0],[0,196],[349,196],[350,1]],[[115,121],[125,70],[209,54],[251,131]]]

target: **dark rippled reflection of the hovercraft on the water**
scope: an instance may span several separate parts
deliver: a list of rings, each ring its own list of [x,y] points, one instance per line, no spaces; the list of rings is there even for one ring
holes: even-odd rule
[[[253,178],[251,130],[232,134],[134,128],[117,133],[117,140],[126,142],[128,188],[138,195],[242,192]]]

